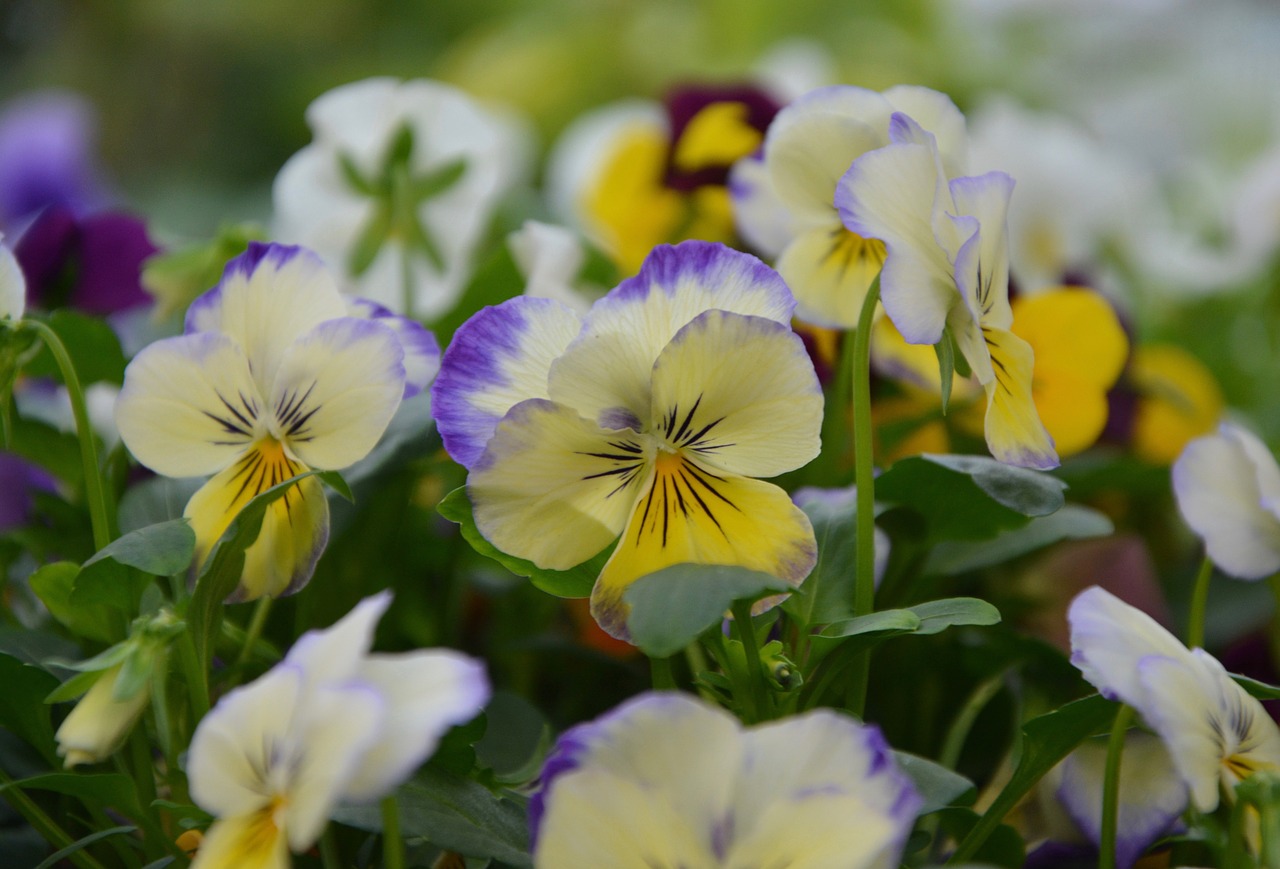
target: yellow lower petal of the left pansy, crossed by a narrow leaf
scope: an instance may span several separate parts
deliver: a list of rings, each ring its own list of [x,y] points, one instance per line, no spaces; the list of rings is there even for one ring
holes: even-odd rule
[[[214,476],[183,511],[196,532],[196,561],[204,564],[232,520],[255,495],[307,471],[274,439],[248,449],[234,465]],[[257,540],[244,553],[244,571],[234,600],[253,600],[296,591],[315,571],[329,539],[329,503],[315,477],[293,485],[266,509]]]

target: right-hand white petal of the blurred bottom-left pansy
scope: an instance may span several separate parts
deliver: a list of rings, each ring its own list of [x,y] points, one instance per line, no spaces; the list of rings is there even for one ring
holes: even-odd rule
[[[489,700],[484,664],[448,650],[372,655],[358,680],[381,696],[385,721],[343,790],[352,801],[389,793],[431,756],[445,731],[475,718]]]

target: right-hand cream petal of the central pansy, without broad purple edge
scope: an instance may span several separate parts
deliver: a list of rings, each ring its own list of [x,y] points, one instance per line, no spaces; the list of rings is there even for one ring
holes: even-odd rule
[[[708,311],[676,333],[653,369],[654,434],[744,476],[772,477],[813,459],[822,407],[804,342],[763,317]]]

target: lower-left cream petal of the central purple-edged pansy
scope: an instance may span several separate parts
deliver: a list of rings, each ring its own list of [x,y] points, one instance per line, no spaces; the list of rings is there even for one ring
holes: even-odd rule
[[[467,477],[493,545],[566,570],[604,549],[650,475],[653,448],[545,399],[516,404]]]

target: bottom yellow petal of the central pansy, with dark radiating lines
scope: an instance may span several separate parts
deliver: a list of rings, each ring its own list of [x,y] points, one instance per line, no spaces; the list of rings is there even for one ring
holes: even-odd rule
[[[664,453],[654,466],[653,482],[591,591],[591,614],[613,636],[627,636],[622,593],[664,567],[732,564],[794,585],[813,570],[813,526],[778,486],[681,453]]]

